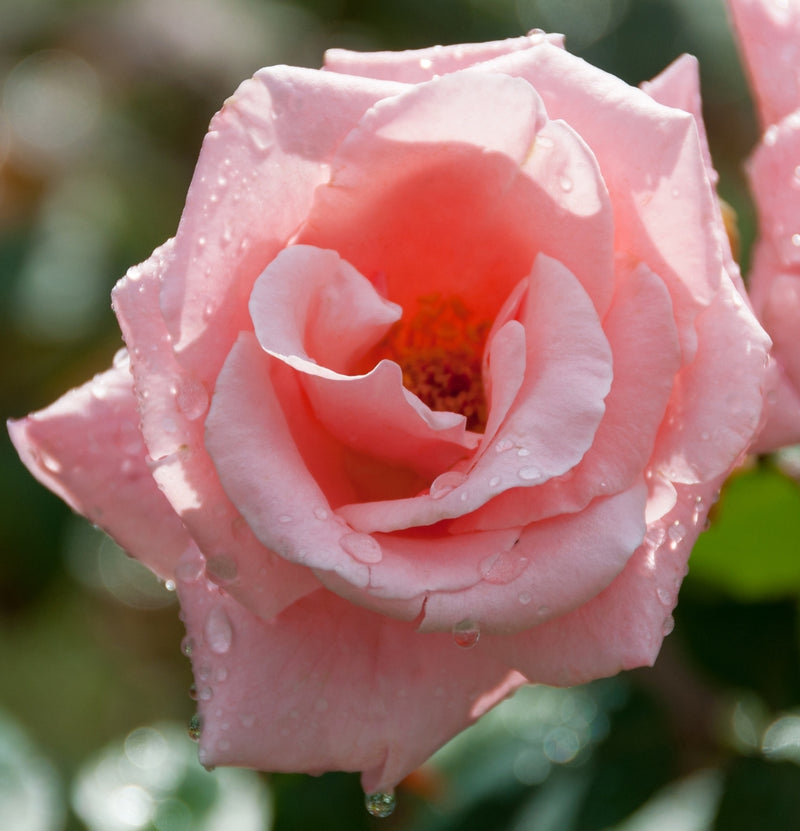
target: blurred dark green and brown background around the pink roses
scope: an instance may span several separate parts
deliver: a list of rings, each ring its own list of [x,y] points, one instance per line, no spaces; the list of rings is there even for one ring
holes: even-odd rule
[[[0,0],[0,395],[20,416],[105,368],[109,291],[174,233],[240,80],[331,46],[560,31],[631,83],[700,58],[720,191],[756,140],[721,0]],[[534,687],[369,817],[357,777],[207,773],[174,596],[0,439],[0,828],[705,831],[800,828],[800,460],[723,492],[652,670]],[[794,474],[795,478],[792,478]]]

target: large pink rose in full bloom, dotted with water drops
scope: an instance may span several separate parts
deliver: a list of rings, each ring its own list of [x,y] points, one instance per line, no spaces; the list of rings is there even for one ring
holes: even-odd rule
[[[385,791],[525,681],[655,660],[769,347],[696,83],[532,33],[333,50],[215,116],[114,289],[127,351],[10,425],[177,584],[203,763]]]

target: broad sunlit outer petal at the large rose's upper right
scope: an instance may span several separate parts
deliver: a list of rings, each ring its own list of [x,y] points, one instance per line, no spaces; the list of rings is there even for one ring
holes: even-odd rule
[[[591,147],[611,195],[615,247],[665,281],[690,360],[694,318],[714,296],[722,271],[719,242],[709,231],[717,208],[694,119],[547,44],[480,69],[527,79],[549,116],[563,119]]]

